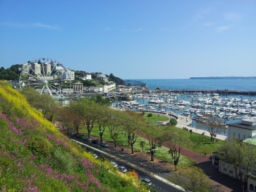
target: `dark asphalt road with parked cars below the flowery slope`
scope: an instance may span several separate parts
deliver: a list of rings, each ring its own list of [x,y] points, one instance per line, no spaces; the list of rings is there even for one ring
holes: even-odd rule
[[[168,182],[167,178],[170,176],[170,172],[161,167],[153,167],[151,163],[142,161],[124,152],[110,150],[110,148],[102,148],[98,145],[92,144],[89,141],[84,141],[77,137],[72,137],[73,141],[78,141],[80,144],[86,146],[86,150],[94,150],[94,153],[104,154],[104,156],[110,161],[114,161],[118,166],[124,166],[127,170],[136,171],[140,178],[149,178],[152,182],[151,187],[159,192],[180,192],[178,186]]]

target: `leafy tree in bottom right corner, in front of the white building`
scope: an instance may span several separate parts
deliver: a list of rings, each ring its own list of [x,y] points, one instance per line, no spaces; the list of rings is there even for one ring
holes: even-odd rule
[[[244,191],[247,183],[248,174],[256,167],[256,148],[250,141],[245,143],[240,139],[231,139],[218,150],[218,156],[224,162],[229,163],[235,169],[235,176],[240,180]],[[242,175],[242,169],[246,173]]]

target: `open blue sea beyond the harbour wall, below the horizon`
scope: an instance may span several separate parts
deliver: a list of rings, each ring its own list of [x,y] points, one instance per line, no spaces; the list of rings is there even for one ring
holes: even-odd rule
[[[256,79],[129,79],[142,81],[155,90],[238,90],[256,91]]]

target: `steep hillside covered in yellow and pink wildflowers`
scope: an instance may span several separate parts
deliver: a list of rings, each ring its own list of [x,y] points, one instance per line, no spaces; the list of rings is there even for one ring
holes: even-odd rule
[[[0,191],[147,191],[57,131],[0,81]]]

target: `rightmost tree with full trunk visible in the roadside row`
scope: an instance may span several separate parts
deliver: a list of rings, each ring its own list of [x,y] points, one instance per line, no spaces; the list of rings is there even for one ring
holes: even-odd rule
[[[166,141],[168,148],[170,148],[170,156],[172,156],[176,167],[179,163],[181,149],[192,145],[192,142],[185,137],[184,130],[173,126],[166,129],[164,133],[164,141]]]

